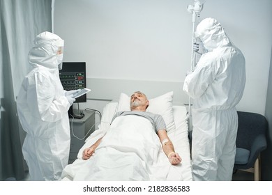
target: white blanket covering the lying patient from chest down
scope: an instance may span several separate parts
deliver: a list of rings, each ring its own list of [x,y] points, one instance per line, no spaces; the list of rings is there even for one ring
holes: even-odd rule
[[[141,116],[119,116],[110,125],[95,155],[66,166],[63,179],[169,180],[170,167],[150,121]],[[174,178],[182,180],[180,174]]]

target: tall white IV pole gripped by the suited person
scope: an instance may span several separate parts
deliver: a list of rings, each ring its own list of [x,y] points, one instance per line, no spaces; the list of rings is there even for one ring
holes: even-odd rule
[[[193,72],[195,70],[195,51],[193,49],[194,47],[194,43],[196,42],[195,40],[195,22],[196,22],[196,18],[199,17],[199,13],[202,11],[203,9],[203,3],[200,3],[200,1],[195,0],[193,5],[189,5],[187,6],[187,10],[189,13],[192,14],[192,54],[191,54],[191,71]],[[188,111],[188,115],[189,115],[189,123],[188,123],[188,127],[189,130],[191,128],[191,104],[192,104],[192,100],[191,98],[189,98],[189,111]]]

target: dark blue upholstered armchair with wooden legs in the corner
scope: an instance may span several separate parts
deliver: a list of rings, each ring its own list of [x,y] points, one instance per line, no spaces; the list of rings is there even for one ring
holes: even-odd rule
[[[234,173],[237,170],[254,172],[254,180],[261,179],[261,152],[266,149],[268,123],[261,114],[237,111],[239,126],[236,138]]]

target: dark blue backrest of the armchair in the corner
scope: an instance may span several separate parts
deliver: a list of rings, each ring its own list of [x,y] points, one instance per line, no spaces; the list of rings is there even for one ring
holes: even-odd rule
[[[266,134],[267,120],[261,114],[237,111],[238,132],[236,147],[250,150],[253,140],[260,134]]]

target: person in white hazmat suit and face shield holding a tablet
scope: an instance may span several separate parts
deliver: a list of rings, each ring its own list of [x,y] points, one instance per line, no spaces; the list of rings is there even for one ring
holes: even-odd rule
[[[64,91],[59,79],[64,41],[46,31],[34,44],[29,52],[33,69],[17,95],[18,116],[27,132],[22,153],[31,180],[60,180],[70,151],[68,109],[77,91]]]

